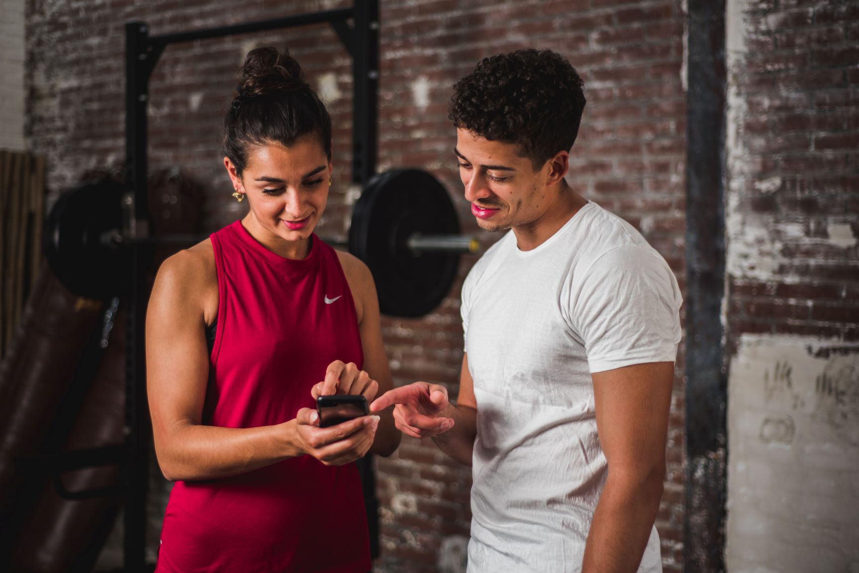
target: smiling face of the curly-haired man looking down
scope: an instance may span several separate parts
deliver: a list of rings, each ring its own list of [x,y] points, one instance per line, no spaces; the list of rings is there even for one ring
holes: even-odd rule
[[[478,226],[503,231],[538,220],[549,203],[547,169],[535,172],[531,160],[512,143],[490,142],[468,130],[456,130],[454,153],[466,199]]]

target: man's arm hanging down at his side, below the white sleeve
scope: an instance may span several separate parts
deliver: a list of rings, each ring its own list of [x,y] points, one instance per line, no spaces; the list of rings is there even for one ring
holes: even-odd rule
[[[673,362],[652,362],[592,375],[608,477],[582,573],[638,570],[662,497],[673,371]]]

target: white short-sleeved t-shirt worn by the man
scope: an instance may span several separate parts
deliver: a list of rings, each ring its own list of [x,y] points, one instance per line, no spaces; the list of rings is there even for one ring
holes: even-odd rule
[[[580,571],[606,480],[592,372],[673,361],[677,280],[588,202],[536,249],[508,232],[462,287],[477,398],[469,573]],[[661,571],[651,531],[639,572]]]

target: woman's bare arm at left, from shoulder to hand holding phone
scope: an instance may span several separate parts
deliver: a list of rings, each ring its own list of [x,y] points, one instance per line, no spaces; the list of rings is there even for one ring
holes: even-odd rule
[[[302,408],[295,419],[277,425],[240,429],[201,424],[209,377],[205,311],[213,288],[215,308],[217,300],[210,253],[207,241],[171,256],[161,265],[149,299],[147,390],[164,476],[210,480],[296,455],[314,455],[332,465],[364,455],[375,437],[378,422],[373,416],[319,428],[316,413]]]

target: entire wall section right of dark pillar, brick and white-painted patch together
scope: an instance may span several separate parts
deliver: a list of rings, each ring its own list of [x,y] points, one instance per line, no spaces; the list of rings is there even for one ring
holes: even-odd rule
[[[859,3],[730,0],[727,27],[728,569],[849,570]]]

